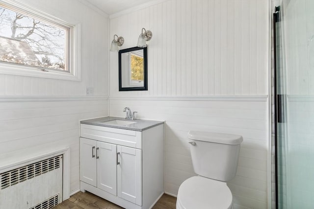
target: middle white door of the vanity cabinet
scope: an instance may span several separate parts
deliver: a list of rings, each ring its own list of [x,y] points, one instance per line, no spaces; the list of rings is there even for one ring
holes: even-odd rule
[[[117,145],[97,141],[97,187],[117,195]]]

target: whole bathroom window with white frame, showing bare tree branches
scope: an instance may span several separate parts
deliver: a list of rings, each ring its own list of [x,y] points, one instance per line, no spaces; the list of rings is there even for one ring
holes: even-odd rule
[[[0,73],[79,79],[79,25],[21,3],[0,3],[0,25]]]

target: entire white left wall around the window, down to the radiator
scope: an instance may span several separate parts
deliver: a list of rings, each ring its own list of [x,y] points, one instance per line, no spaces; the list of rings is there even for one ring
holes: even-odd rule
[[[108,17],[74,0],[23,0],[81,24],[81,81],[0,74],[0,162],[34,146],[71,148],[71,192],[79,189],[79,120],[108,116]],[[85,96],[85,87],[94,89]]]

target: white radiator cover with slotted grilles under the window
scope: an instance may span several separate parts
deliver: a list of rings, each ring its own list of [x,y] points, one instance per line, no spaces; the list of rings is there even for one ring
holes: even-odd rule
[[[51,209],[62,202],[62,155],[0,174],[0,209]]]

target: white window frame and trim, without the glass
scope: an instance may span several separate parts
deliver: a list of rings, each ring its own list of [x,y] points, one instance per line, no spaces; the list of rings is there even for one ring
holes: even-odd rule
[[[37,8],[16,0],[1,0],[0,6],[6,7],[13,11],[21,12],[30,17],[37,18],[42,21],[54,25],[61,25],[69,28],[66,36],[68,47],[65,49],[68,70],[53,70],[36,66],[27,66],[22,64],[0,62],[0,74],[20,75],[40,78],[52,78],[61,80],[80,81],[80,23],[72,20],[61,20]],[[63,18],[64,19],[64,18]]]

